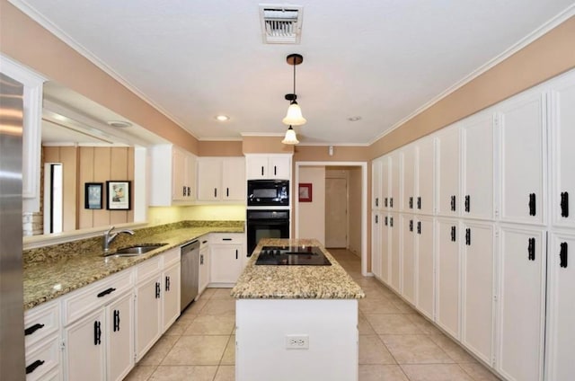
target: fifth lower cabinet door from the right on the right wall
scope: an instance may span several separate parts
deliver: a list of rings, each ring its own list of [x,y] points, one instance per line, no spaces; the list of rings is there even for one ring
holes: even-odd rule
[[[416,266],[416,306],[423,315],[433,320],[435,306],[435,256],[434,256],[434,224],[433,217],[417,217],[415,252],[417,253]],[[414,222],[415,223],[415,222]]]

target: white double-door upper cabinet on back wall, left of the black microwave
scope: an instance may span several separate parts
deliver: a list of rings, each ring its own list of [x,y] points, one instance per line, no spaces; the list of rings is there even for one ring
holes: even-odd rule
[[[245,202],[243,157],[199,157],[198,199]]]

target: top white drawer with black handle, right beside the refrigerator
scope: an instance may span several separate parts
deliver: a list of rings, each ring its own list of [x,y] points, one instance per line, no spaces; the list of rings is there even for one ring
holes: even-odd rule
[[[24,314],[26,348],[57,332],[60,323],[60,304],[57,301],[37,306]]]

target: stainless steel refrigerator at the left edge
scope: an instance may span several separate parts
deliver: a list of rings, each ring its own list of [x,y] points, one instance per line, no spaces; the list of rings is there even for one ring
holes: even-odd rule
[[[25,378],[22,84],[0,73],[0,379]]]

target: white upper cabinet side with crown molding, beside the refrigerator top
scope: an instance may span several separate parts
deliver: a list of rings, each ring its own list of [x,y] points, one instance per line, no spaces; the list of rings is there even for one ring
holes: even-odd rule
[[[2,73],[23,85],[22,210],[40,211],[40,138],[42,84],[45,79],[10,58],[2,58]]]

